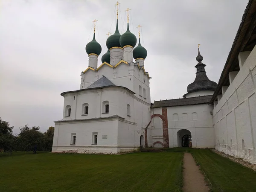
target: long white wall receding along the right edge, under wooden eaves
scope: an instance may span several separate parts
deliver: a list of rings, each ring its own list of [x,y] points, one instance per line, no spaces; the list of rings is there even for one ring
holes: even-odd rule
[[[249,54],[247,54],[249,55]],[[250,163],[256,163],[256,48],[241,63],[240,71],[230,76],[230,86],[225,87],[213,110],[215,148]],[[231,74],[233,75],[233,73]],[[221,99],[220,99],[221,98]],[[217,105],[216,105],[217,104]],[[244,147],[242,145],[244,140]]]

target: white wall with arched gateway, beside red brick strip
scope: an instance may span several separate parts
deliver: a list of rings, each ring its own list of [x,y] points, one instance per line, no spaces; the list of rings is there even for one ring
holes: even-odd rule
[[[161,114],[162,108],[152,109],[152,114]],[[193,148],[214,148],[215,135],[212,123],[212,105],[185,105],[167,107],[169,147],[180,147],[181,137],[178,131],[188,130],[192,136]],[[154,117],[148,127],[151,137],[148,146],[160,141],[163,143],[163,121]]]

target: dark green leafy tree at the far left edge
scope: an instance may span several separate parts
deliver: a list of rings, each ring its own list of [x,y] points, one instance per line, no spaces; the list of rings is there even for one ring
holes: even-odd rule
[[[13,127],[10,127],[9,122],[3,121],[0,118],[0,152],[12,151],[15,144],[15,137],[12,135]]]

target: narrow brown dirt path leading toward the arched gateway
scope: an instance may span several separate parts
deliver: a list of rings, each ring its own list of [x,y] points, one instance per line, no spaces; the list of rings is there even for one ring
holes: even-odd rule
[[[191,153],[184,153],[183,159],[183,191],[208,192],[209,186],[204,180],[204,175],[196,165]]]

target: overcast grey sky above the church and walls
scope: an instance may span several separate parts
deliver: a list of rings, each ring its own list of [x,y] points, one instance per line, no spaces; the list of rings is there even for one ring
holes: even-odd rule
[[[207,76],[218,83],[247,0],[119,0],[119,32],[130,30],[148,51],[145,70],[151,102],[181,98],[195,79],[197,46]],[[115,0],[1,0],[0,117],[14,126],[46,131],[62,119],[61,92],[80,88],[88,67],[85,45],[93,37],[106,52],[107,33],[116,24]]]

